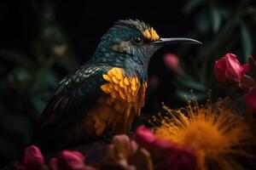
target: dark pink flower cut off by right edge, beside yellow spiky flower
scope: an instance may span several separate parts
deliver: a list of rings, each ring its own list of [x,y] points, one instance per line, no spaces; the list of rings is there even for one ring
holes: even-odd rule
[[[256,116],[256,87],[251,88],[246,95],[246,105],[249,112]]]

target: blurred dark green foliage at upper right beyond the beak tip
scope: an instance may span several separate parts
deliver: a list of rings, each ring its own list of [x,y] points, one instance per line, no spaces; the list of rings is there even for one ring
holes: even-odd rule
[[[195,29],[188,35],[203,45],[193,54],[188,46],[178,50],[183,57],[183,73],[174,81],[178,87],[177,97],[184,100],[183,95],[190,95],[189,89],[194,89],[198,99],[204,100],[210,88],[214,99],[223,97],[228,92],[213,75],[214,61],[233,53],[244,64],[249,55],[255,53],[256,8],[253,1],[189,0],[184,3],[183,13],[192,15],[191,20],[195,23]]]

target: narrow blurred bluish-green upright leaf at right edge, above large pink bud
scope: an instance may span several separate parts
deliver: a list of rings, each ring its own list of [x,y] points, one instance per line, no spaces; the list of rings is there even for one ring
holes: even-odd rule
[[[248,61],[249,55],[253,52],[253,41],[246,24],[241,22],[241,46],[245,61]]]

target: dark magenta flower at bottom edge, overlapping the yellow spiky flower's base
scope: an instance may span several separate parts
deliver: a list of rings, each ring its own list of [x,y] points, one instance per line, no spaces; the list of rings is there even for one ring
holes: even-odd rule
[[[182,147],[177,149],[166,160],[166,170],[194,170],[196,156],[193,150]]]

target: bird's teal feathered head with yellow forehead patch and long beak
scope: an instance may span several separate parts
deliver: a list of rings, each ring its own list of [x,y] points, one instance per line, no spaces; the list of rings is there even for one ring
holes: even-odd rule
[[[151,56],[159,48],[175,42],[201,43],[190,38],[161,38],[154,28],[139,20],[119,20],[102,37],[93,59],[132,72],[148,69]]]

